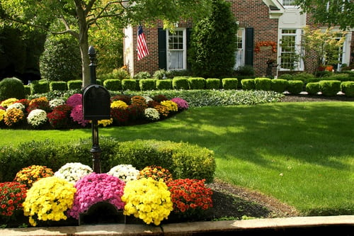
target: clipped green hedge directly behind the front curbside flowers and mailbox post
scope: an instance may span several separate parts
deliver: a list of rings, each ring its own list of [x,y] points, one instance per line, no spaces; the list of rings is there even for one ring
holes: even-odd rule
[[[59,144],[52,140],[23,142],[18,147],[0,147],[0,182],[12,181],[23,167],[45,165],[54,172],[68,162],[92,165],[91,139]],[[215,158],[211,150],[185,142],[135,140],[119,142],[101,137],[101,169],[108,172],[118,164],[132,164],[137,169],[159,165],[169,169],[174,179],[206,179],[211,182]]]

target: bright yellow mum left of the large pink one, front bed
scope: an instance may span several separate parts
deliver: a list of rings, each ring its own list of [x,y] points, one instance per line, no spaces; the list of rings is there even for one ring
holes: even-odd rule
[[[23,202],[23,213],[29,216],[30,225],[38,220],[66,220],[65,213],[74,201],[74,186],[55,176],[40,179],[28,190]]]

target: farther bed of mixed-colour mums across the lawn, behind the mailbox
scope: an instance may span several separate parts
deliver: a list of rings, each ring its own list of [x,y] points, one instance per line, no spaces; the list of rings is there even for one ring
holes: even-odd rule
[[[164,99],[161,99],[164,98]],[[98,124],[129,125],[149,123],[188,109],[188,102],[181,98],[166,99],[165,96],[126,96],[111,98],[108,120]],[[90,120],[84,120],[82,94],[73,94],[64,99],[48,100],[45,96],[36,99],[6,99],[0,103],[0,128],[67,129],[86,127]]]

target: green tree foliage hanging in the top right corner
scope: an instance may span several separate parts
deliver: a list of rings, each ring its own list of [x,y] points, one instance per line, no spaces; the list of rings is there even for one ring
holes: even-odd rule
[[[353,0],[295,0],[295,4],[311,13],[316,23],[340,26],[343,30],[354,27]]]

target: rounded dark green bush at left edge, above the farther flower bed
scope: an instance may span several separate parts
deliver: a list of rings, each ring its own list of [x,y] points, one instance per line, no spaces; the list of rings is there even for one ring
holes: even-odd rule
[[[25,87],[23,86],[23,82],[15,77],[6,78],[0,82],[0,101],[11,98],[25,98]]]

